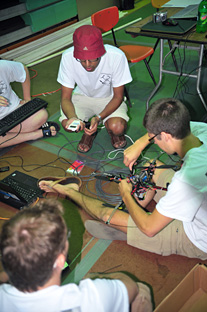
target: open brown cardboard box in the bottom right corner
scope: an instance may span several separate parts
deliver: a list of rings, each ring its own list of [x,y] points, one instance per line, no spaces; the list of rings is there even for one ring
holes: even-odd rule
[[[207,267],[197,264],[154,312],[206,312]]]

